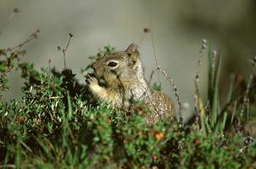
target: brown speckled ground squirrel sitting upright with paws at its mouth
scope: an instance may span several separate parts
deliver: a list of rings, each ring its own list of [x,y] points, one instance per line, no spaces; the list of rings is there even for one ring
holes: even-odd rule
[[[108,101],[111,106],[124,112],[131,111],[134,101],[143,99],[150,112],[147,125],[163,118],[175,118],[175,109],[170,97],[162,91],[151,90],[143,77],[142,61],[135,44],[125,51],[109,52],[92,64],[97,77],[104,79],[105,86],[97,78],[86,75],[86,83],[97,101]]]

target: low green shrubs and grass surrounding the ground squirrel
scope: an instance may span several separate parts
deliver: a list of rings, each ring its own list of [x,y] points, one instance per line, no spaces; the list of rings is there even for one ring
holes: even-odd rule
[[[93,62],[112,50],[105,46],[90,58]],[[36,70],[31,63],[18,62],[23,53],[19,48],[0,52],[1,93],[8,90],[10,71],[19,69],[25,79],[21,101],[0,101],[1,168],[256,167],[256,143],[243,132],[247,115],[240,113],[247,82],[231,79],[230,90],[220,101],[221,57],[212,54],[209,44],[208,97],[196,95],[197,117],[184,127],[167,120],[148,128],[141,101],[127,117],[93,101],[71,69]],[[251,121],[255,121],[255,82],[254,78],[248,95]],[[153,88],[161,90],[157,84]],[[164,135],[170,125],[170,133]]]

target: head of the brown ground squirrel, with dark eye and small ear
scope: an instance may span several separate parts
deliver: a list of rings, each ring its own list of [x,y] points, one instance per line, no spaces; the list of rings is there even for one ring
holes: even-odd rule
[[[109,85],[136,82],[143,78],[139,55],[137,46],[132,43],[125,51],[105,54],[93,63],[92,68]]]

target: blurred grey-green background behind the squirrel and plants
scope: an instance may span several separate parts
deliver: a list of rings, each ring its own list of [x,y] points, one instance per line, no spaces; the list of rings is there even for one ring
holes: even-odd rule
[[[14,8],[19,8],[20,13],[5,25]],[[63,56],[57,46],[65,46],[68,34],[72,33],[67,66],[85,83],[81,68],[90,63],[88,56],[107,44],[123,50],[131,42],[139,43],[143,28],[150,26],[149,16],[159,65],[175,80],[181,101],[190,107],[203,39],[210,41],[213,49],[221,50],[221,95],[225,95],[231,73],[248,77],[248,59],[255,55],[256,48],[255,0],[1,0],[0,47],[16,46],[39,29],[38,40],[25,46],[22,60],[42,68],[51,59],[52,67],[62,69]],[[149,79],[155,69],[150,34],[139,45]],[[207,85],[206,67],[204,59],[202,92]],[[10,74],[9,80],[12,88],[5,94],[5,100],[20,99],[23,82],[19,74]],[[164,91],[175,100],[168,81],[163,76],[161,81]]]

